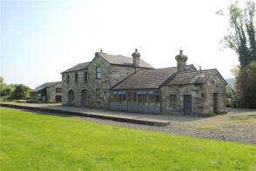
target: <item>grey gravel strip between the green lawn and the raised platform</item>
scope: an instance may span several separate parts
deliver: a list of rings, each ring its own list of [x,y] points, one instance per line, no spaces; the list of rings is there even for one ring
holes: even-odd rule
[[[237,141],[256,144],[256,123],[220,123],[214,128],[206,128],[202,124],[187,122],[172,122],[166,127],[154,127],[125,122],[113,122],[94,118],[78,117],[79,119],[109,124],[113,126],[136,128],[151,131],[160,131],[175,135],[188,135],[192,137],[215,139],[220,141]],[[199,127],[197,127],[199,126]]]

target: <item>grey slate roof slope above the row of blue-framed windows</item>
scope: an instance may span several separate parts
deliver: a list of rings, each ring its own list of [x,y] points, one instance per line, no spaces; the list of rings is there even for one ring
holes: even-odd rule
[[[187,65],[186,68],[190,70],[194,66]],[[125,78],[125,80],[118,82],[111,89],[157,89],[159,85],[176,72],[176,67],[138,71]]]

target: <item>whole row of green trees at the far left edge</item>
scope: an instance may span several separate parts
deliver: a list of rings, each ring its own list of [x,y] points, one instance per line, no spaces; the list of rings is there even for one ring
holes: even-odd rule
[[[0,100],[23,100],[30,98],[30,87],[24,84],[7,84],[4,83],[3,77],[0,76]]]

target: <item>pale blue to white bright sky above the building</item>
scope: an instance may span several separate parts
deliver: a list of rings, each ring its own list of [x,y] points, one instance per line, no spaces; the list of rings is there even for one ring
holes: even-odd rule
[[[239,63],[220,40],[227,33],[228,0],[30,0],[1,5],[1,76],[35,89],[95,52],[131,56],[135,48],[155,68],[187,64],[218,69],[224,78]]]

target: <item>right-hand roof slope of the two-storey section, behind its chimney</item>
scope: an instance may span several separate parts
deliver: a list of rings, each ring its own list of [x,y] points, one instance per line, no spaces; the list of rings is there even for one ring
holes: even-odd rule
[[[126,57],[126,56],[114,56],[114,55],[108,55],[106,53],[100,53],[98,52],[99,56],[102,56],[107,62],[111,64],[116,64],[116,65],[123,65],[123,66],[128,66],[128,67],[133,67],[133,59],[132,57]],[[149,63],[145,62],[143,59],[139,60],[139,67],[141,68],[148,68],[148,69],[154,69],[152,65]]]

